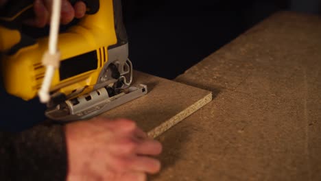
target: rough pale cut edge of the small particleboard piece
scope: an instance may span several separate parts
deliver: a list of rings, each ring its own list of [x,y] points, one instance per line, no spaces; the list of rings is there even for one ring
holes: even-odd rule
[[[209,93],[208,95],[205,95],[202,99],[196,101],[194,104],[186,108],[185,110],[182,110],[181,112],[178,112],[178,114],[174,115],[174,117],[171,117],[171,119],[168,119],[167,121],[161,123],[153,130],[150,130],[147,135],[150,138],[156,138],[160,136],[160,134],[163,134],[167,130],[169,130],[171,127],[176,125],[177,123],[180,123],[183,119],[186,119],[191,114],[205,106],[206,104],[209,104],[213,99],[212,93]]]

